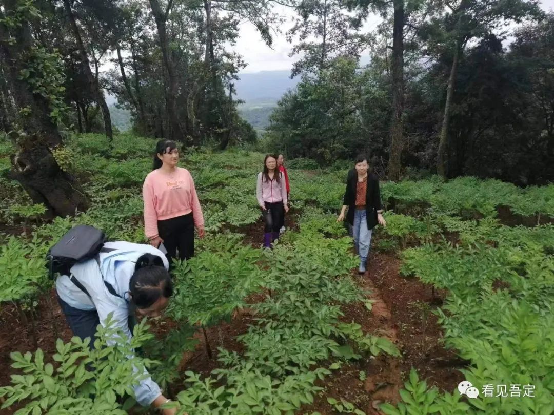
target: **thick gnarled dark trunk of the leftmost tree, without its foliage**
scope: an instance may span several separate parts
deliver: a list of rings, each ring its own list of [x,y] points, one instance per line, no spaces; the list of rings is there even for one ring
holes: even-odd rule
[[[6,14],[15,13],[17,3],[4,2]],[[8,33],[8,30],[10,33]],[[66,216],[89,206],[75,178],[60,169],[53,149],[61,146],[58,127],[50,119],[48,101],[33,94],[32,86],[20,73],[27,66],[34,42],[30,25],[23,21],[19,27],[5,27],[0,23],[0,39],[13,38],[16,42],[0,42],[0,61],[9,62],[4,69],[8,89],[16,108],[28,108],[27,115],[19,115],[18,127],[22,133],[12,133],[17,153],[12,156],[10,177],[19,181],[34,203],[42,203],[50,215]]]

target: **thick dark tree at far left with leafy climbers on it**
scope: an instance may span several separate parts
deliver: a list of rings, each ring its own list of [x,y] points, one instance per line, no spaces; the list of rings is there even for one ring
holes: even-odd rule
[[[50,214],[71,215],[89,206],[75,178],[60,168],[63,73],[60,56],[35,43],[31,22],[42,16],[31,2],[3,0],[0,7],[0,64],[9,98],[18,112],[11,134],[17,153],[11,175]]]

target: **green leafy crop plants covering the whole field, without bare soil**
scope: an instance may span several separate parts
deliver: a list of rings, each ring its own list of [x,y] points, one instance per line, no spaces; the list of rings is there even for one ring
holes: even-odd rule
[[[27,237],[3,237],[3,303],[15,302],[33,318],[29,310],[35,300],[52,288],[45,254],[76,224],[103,229],[111,240],[145,242],[140,185],[151,169],[154,145],[149,139],[118,136],[106,151],[104,137],[71,138],[57,158],[85,181],[93,207],[75,217],[35,225]],[[27,406],[18,414],[125,413],[134,401],[122,403],[117,397],[131,393],[130,385],[139,380],[133,365],[147,365],[158,384],[172,391],[181,413],[294,413],[317,393],[325,393],[316,380],[332,375],[340,361],[369,359],[381,352],[398,356],[388,340],[363,333],[355,322],[338,320],[341,304],[363,302],[367,295],[350,277],[356,266],[351,239],[336,222],[351,166],[322,172],[306,170],[309,160],[289,163],[291,206],[299,230],[287,232],[273,251],[263,251],[244,245],[240,234],[261,226],[254,189],[262,162],[263,155],[246,151],[186,154],[183,165],[194,177],[209,235],[198,242],[196,257],[177,264],[174,271],[176,294],[167,314],[177,329],[156,340],[141,324],[130,346],[141,346],[143,353],[131,360],[122,359],[129,350],[107,346],[105,351],[89,351],[78,340],[66,345],[59,341],[54,365],[44,364],[40,351],[16,354],[14,367],[25,375],[15,376],[14,385],[0,390],[6,397],[3,407],[24,400]],[[40,206],[31,205],[16,184],[2,179],[0,186],[6,198],[4,220],[25,218],[30,224],[39,218]],[[532,222],[540,223],[554,216],[554,185],[519,189],[497,180],[444,183],[432,177],[382,183],[381,198],[388,209],[387,227],[378,229],[373,248],[402,248],[405,276],[448,289],[437,313],[447,345],[471,361],[464,371],[466,380],[480,390],[490,384],[535,386],[535,397],[468,400],[457,390],[428,390],[413,372],[401,392],[403,402],[382,410],[550,414],[554,226],[505,226],[498,208],[507,206],[513,214],[534,216]],[[194,332],[230,319],[246,306],[249,295],[260,292],[264,301],[248,306],[254,309],[254,324],[237,339],[244,352],[220,351],[219,367],[211,377],[187,372],[183,384],[179,362],[183,352],[196,347]],[[110,328],[104,331],[99,345],[113,335]],[[102,359],[107,355],[109,359]],[[90,363],[94,372],[85,369]],[[363,413],[348,402],[335,400],[332,405],[337,412]]]

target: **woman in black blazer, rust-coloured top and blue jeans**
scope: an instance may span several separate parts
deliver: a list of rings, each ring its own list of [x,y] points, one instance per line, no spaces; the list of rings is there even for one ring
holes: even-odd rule
[[[348,174],[342,210],[337,221],[345,218],[353,226],[354,244],[360,255],[358,273],[366,272],[367,254],[370,252],[371,234],[375,225],[386,226],[381,210],[381,195],[377,176],[368,173],[367,157],[358,155],[355,160],[355,172]],[[350,173],[350,172],[349,172]]]

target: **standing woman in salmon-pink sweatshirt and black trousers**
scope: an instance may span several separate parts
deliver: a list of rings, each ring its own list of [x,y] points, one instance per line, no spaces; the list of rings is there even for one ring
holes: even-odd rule
[[[194,228],[203,238],[204,217],[194,180],[187,169],[177,167],[179,150],[173,141],[161,140],[156,146],[154,169],[142,185],[144,226],[150,245],[163,246],[167,258],[181,260],[194,256]]]

